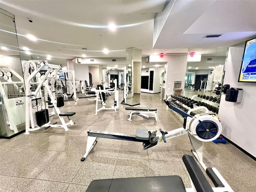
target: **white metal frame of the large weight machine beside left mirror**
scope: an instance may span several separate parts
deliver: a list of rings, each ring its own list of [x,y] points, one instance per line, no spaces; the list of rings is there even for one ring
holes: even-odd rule
[[[38,66],[36,66],[36,63],[39,63]],[[30,66],[34,67],[34,71],[29,74],[29,68]],[[44,66],[48,67],[47,72],[44,76],[40,76],[40,70]],[[55,96],[53,95],[54,91],[54,82],[56,80],[56,76],[58,71],[60,70],[61,66],[48,64],[47,60],[29,60],[24,63],[24,78],[25,78],[25,85],[26,85],[26,133],[29,134],[30,131],[39,130],[42,127],[58,127],[58,128],[64,128],[65,131],[69,130],[68,125],[73,125],[74,122],[68,117],[69,122],[66,123],[64,118],[60,116],[60,109],[57,107],[57,102],[55,100]],[[34,78],[36,78],[36,81],[34,81]],[[51,80],[51,86],[49,86],[48,81]],[[30,91],[30,85],[37,84],[38,87],[34,92]],[[42,96],[41,87],[44,87],[45,94],[50,97],[51,103],[54,106],[54,110],[58,114],[58,117],[62,124],[51,124],[51,122],[48,122],[47,124],[44,124],[42,126],[38,126],[36,123],[36,117],[35,112],[32,108],[31,99],[34,98],[41,98],[42,104],[44,104],[44,96]],[[46,106],[42,106],[42,108],[47,108]],[[31,122],[31,128],[30,128],[30,122]]]

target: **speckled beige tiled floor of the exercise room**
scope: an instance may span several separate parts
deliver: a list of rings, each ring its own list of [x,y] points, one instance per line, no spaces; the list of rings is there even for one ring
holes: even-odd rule
[[[10,140],[0,139],[0,191],[1,192],[82,192],[95,179],[181,176],[186,187],[190,181],[182,163],[182,156],[190,154],[187,135],[158,143],[143,150],[142,143],[99,138],[84,162],[87,131],[100,130],[135,134],[136,129],[173,130],[182,127],[181,116],[166,110],[159,94],[141,94],[141,107],[157,108],[158,121],[139,116],[126,120],[129,111],[119,92],[117,112],[102,110],[95,115],[95,102],[80,99],[65,102],[61,112],[76,112],[75,125],[49,128],[20,134]],[[113,96],[106,100],[112,104]],[[99,104],[100,105],[100,104]],[[58,120],[51,118],[52,122]],[[65,118],[67,121],[67,119]],[[235,192],[255,192],[256,162],[230,143],[205,142],[203,158],[206,166],[216,167]],[[212,184],[211,184],[212,185]],[[212,185],[213,186],[213,185]]]

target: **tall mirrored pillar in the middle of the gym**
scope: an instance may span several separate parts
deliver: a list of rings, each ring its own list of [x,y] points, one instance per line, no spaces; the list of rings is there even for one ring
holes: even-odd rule
[[[138,48],[126,49],[126,93],[123,104],[135,106],[140,104],[140,84],[141,84],[141,62],[142,50]]]

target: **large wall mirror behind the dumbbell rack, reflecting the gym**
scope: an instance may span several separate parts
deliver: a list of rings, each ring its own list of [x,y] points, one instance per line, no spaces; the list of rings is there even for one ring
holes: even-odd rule
[[[209,50],[208,54],[202,54],[200,62],[187,63],[184,96],[192,100],[194,105],[205,106],[209,113],[218,114],[226,53],[226,47],[218,47]],[[190,109],[188,105],[189,101],[183,101],[187,110]]]

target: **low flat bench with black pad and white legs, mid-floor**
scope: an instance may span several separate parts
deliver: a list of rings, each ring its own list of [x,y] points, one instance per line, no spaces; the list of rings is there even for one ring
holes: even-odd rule
[[[126,107],[125,110],[132,110],[129,113],[130,118],[127,120],[131,121],[133,115],[138,115],[145,119],[155,119],[157,121],[156,108],[147,108],[147,107]],[[154,117],[148,116],[147,114],[154,114]]]

